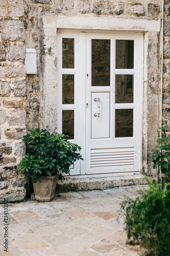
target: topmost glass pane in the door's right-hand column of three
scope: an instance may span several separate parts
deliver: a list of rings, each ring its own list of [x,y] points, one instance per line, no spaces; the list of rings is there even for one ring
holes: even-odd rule
[[[116,69],[134,68],[134,40],[116,40]]]

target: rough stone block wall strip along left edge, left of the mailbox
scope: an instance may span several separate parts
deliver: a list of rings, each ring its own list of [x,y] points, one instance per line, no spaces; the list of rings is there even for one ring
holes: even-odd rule
[[[24,175],[16,165],[25,154],[26,68],[23,1],[0,1],[0,202],[22,200]]]

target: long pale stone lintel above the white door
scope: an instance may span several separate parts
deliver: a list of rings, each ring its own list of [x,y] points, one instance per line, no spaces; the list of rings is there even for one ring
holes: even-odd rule
[[[110,31],[160,31],[160,20],[145,18],[125,19],[93,16],[64,16],[44,15],[43,25],[46,28],[56,29],[84,29]]]

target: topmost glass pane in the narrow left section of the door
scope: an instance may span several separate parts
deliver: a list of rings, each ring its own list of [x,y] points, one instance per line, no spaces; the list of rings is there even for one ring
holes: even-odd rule
[[[63,69],[74,69],[74,38],[63,38]]]

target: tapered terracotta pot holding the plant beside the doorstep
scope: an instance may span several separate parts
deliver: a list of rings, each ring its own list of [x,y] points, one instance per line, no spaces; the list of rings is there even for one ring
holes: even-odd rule
[[[54,198],[59,175],[43,176],[41,182],[33,183],[35,199],[38,201],[51,201]]]

